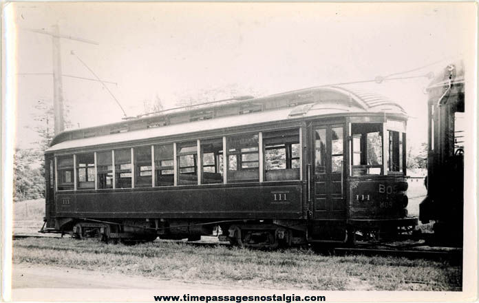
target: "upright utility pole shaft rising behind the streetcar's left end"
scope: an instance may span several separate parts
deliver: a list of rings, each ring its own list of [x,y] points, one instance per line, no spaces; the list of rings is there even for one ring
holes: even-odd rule
[[[63,85],[61,81],[61,52],[60,52],[60,30],[58,24],[53,25],[52,32],[53,50],[53,112],[54,112],[54,134],[60,134],[65,129],[63,121]]]

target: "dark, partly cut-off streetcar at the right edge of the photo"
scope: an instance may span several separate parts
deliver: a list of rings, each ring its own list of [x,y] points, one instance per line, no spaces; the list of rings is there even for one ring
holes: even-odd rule
[[[462,247],[464,211],[465,72],[447,65],[427,88],[427,196],[419,205],[423,223],[434,221],[435,242]]]

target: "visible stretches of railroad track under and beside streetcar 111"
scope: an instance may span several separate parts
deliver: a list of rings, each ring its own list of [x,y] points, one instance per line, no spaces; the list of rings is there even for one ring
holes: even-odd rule
[[[61,238],[58,236],[41,236],[41,235],[13,235],[13,240],[25,239],[25,238]],[[212,237],[213,238],[213,237]],[[182,240],[156,240],[158,242],[174,242],[192,245],[195,247],[216,247],[216,246],[229,246],[228,242],[217,241],[191,241],[185,242]],[[420,244],[405,244],[403,247],[393,247],[388,244],[383,244],[386,248],[377,247],[377,244],[359,244],[359,247],[334,247],[326,248],[317,251],[326,255],[366,255],[370,257],[397,257],[397,258],[409,258],[409,259],[426,259],[426,260],[447,260],[454,264],[462,263],[462,249],[446,249],[442,247],[436,247],[434,249],[417,249]],[[424,245],[424,244],[422,244]]]

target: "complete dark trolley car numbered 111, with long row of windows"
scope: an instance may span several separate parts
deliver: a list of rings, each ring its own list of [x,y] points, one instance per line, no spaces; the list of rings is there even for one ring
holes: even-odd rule
[[[58,134],[44,232],[151,241],[221,231],[243,247],[411,231],[403,108],[315,87]]]

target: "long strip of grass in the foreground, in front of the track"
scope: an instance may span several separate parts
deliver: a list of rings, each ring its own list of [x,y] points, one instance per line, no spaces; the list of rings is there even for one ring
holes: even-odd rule
[[[326,256],[309,249],[257,251],[171,242],[125,246],[72,238],[27,238],[14,240],[13,262],[160,280],[234,283],[239,288],[460,291],[462,285],[462,269],[447,262]]]

